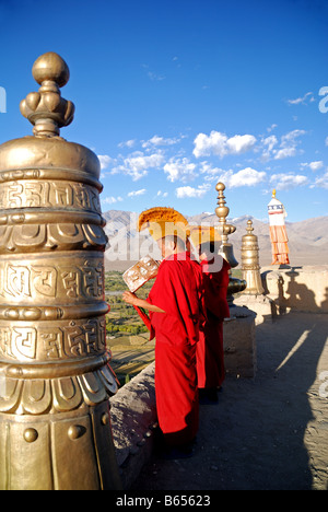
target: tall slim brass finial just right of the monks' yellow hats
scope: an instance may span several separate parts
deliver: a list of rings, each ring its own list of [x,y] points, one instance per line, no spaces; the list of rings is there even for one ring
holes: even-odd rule
[[[224,196],[224,190],[225,190],[225,185],[221,182],[219,182],[215,186],[215,189],[218,191],[218,207],[215,208],[215,213],[219,218],[219,226],[216,226],[216,230],[221,236],[221,246],[219,249],[219,254],[226,259],[226,261],[230,264],[231,268],[235,268],[238,265],[238,261],[236,260],[233,252],[233,246],[232,244],[229,243],[229,235],[233,234],[236,231],[236,228],[232,224],[226,223],[226,218],[230,213],[230,208],[227,208],[226,201],[225,201],[225,196]],[[239,291],[245,290],[246,288],[246,281],[233,278],[230,271],[230,282],[229,282],[229,288],[227,288],[227,302],[229,304],[233,303],[233,293],[237,293]]]

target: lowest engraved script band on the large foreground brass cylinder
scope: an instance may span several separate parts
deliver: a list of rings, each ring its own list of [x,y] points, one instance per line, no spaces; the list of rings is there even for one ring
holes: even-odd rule
[[[104,317],[56,326],[0,323],[0,357],[19,360],[57,360],[95,354],[105,350]]]

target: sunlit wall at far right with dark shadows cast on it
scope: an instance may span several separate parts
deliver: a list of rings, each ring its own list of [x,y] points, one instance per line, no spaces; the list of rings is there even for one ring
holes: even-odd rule
[[[265,267],[261,269],[265,293],[277,307],[286,311],[328,313],[328,265],[317,267]]]

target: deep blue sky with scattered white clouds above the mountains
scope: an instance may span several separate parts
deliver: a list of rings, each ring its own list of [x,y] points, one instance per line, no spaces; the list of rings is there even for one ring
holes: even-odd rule
[[[328,214],[328,2],[0,0],[0,142],[31,133],[19,104],[57,51],[103,211],[213,212],[222,181],[234,218],[267,219],[273,188],[291,222]]]

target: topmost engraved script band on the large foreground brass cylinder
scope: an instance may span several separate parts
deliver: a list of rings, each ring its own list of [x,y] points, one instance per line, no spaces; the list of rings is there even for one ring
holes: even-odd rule
[[[0,187],[0,208],[74,208],[101,213],[99,195],[89,185],[66,182],[11,182]]]

